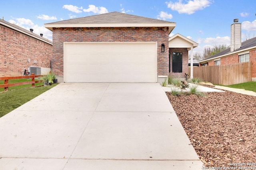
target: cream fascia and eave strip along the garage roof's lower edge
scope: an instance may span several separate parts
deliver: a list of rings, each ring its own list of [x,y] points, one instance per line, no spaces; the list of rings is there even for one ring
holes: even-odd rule
[[[172,32],[176,23],[77,23],[77,24],[54,24],[46,23],[44,27],[52,31],[52,28],[65,28],[65,27],[168,27],[169,33]]]

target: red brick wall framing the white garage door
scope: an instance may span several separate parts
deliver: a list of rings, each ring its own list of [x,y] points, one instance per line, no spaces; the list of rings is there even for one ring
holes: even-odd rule
[[[168,75],[168,27],[53,28],[53,72],[63,76],[64,42],[157,42],[158,75]],[[161,53],[164,43],[165,52]]]

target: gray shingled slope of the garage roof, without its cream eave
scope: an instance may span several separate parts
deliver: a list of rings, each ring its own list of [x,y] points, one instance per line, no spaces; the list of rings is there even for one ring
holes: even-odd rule
[[[47,24],[90,24],[90,23],[174,23],[164,20],[157,20],[121,12],[109,12],[106,14],[99,14],[94,16],[87,16],[82,18],[74,18],[70,20],[57,21]]]

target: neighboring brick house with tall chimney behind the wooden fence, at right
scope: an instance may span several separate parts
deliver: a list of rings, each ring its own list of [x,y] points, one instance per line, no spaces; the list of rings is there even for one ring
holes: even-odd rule
[[[252,81],[256,81],[256,37],[241,42],[241,23],[234,20],[231,25],[231,46],[215,55],[199,61],[200,66],[214,66],[252,62]]]

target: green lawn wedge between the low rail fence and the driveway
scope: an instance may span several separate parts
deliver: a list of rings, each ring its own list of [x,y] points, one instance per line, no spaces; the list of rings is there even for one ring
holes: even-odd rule
[[[0,117],[6,115],[10,111],[32,100],[36,96],[39,96],[56,85],[57,84],[36,88],[20,88],[17,90],[8,90],[7,92],[0,93]]]

